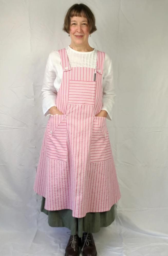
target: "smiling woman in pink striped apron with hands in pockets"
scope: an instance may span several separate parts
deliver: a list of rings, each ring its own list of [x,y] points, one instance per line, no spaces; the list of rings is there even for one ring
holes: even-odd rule
[[[34,191],[49,225],[71,230],[65,255],[79,255],[81,246],[82,255],[95,256],[91,232],[114,221],[120,199],[106,125],[115,97],[112,61],[88,43],[97,28],[86,5],[69,8],[63,30],[71,43],[52,51],[45,69],[43,113],[49,120]]]

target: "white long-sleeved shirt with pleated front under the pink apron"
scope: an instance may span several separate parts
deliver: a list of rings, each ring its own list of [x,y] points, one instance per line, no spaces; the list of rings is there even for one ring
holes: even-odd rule
[[[97,50],[91,52],[79,52],[73,50],[69,45],[66,47],[69,63],[71,67],[91,67],[96,68]],[[60,54],[58,50],[50,52],[43,79],[42,86],[42,108],[45,116],[50,115],[49,108],[56,106],[57,92],[61,86],[63,69],[61,65]],[[103,68],[103,96],[101,110],[107,111],[107,120],[112,120],[115,88],[113,79],[113,64],[112,60],[105,53],[105,61]]]

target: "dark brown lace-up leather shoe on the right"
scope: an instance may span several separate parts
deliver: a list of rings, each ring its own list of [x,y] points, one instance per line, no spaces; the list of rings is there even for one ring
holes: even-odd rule
[[[92,233],[83,232],[82,236],[82,256],[96,256],[96,246]]]

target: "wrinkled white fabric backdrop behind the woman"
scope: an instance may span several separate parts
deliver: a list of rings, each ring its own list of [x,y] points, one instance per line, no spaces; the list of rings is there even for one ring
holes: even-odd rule
[[[67,228],[48,225],[33,192],[48,117],[41,88],[48,54],[79,1],[0,1],[0,255],[64,255]],[[168,255],[168,1],[83,1],[97,31],[89,44],[113,60],[116,98],[108,121],[121,199],[115,221],[94,233],[98,255]]]

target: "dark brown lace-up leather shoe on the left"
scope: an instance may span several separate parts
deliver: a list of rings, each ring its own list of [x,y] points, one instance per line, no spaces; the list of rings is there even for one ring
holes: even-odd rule
[[[78,236],[78,234],[70,235],[67,247],[65,249],[65,256],[79,256],[79,246],[81,246],[81,238]]]

